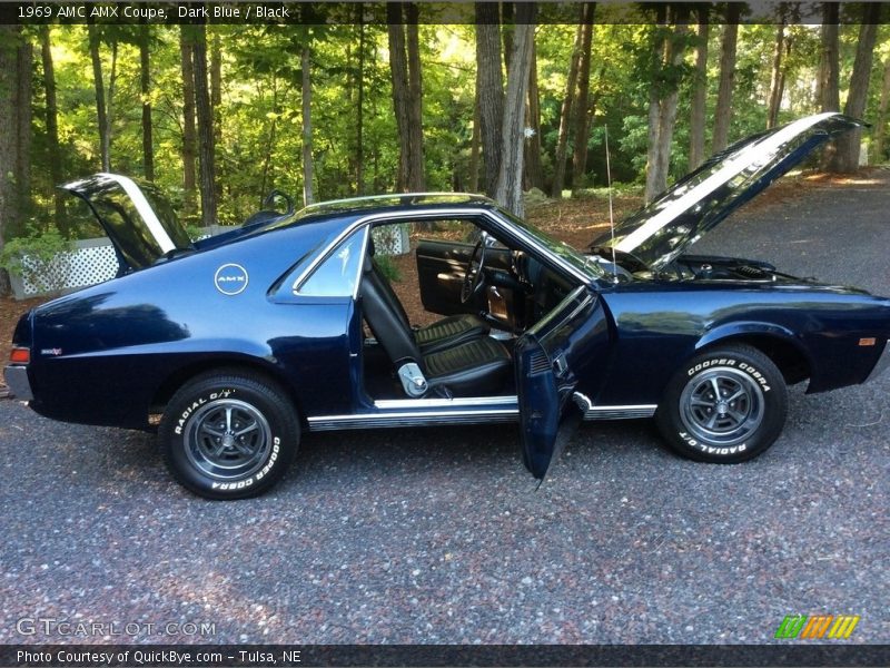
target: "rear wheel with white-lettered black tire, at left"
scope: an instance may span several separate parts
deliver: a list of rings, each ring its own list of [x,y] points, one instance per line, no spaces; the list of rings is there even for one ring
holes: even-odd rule
[[[170,400],[158,432],[174,478],[206,499],[245,499],[285,474],[299,443],[296,410],[263,376],[200,375]]]

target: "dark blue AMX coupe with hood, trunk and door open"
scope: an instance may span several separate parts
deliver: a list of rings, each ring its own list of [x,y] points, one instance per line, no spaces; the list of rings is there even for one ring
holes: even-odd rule
[[[573,418],[654,416],[681,454],[741,462],[779,436],[788,384],[822,392],[890,363],[890,299],[686,250],[857,125],[823,114],[748,138],[586,254],[456,194],[265,212],[192,243],[152,188],[100,174],[65,188],[120,273],[23,316],[7,382],[56,420],[159,422],[172,474],[215,499],[268,490],[304,430],[518,422],[543,478]],[[399,234],[443,316],[424,327],[385,271]]]

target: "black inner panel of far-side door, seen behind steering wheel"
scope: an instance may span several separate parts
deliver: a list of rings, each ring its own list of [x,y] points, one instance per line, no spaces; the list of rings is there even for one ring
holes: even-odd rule
[[[518,283],[511,273],[511,253],[506,248],[485,249],[486,287],[466,304],[461,304],[461,286],[466,276],[466,267],[475,244],[452,240],[423,239],[417,245],[417,281],[421,302],[424,308],[441,315],[479,313],[492,311],[488,298],[497,306],[496,312],[505,314],[507,323],[513,323],[514,284]],[[494,286],[496,294],[492,294]]]

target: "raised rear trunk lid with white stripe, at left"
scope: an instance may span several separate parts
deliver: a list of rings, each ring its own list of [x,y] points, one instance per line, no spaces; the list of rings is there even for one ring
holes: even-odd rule
[[[115,245],[121,274],[192,247],[170,204],[149,183],[97,174],[60,187],[89,205]]]

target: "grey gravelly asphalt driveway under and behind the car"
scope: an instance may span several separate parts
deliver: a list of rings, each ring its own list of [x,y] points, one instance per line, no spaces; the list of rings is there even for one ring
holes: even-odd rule
[[[760,207],[700,249],[890,294],[890,190]],[[890,642],[890,375],[805,396],[755,461],[586,424],[540,488],[515,428],[307,435],[260,499],[168,478],[150,435],[0,402],[0,642],[22,618],[141,625],[113,641],[767,642],[785,615],[861,615]],[[160,636],[167,622],[212,633]]]

